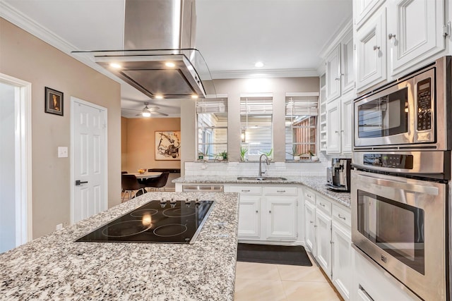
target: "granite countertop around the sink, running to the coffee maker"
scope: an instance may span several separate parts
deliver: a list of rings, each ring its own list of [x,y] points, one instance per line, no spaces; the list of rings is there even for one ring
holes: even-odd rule
[[[333,199],[333,201],[350,208],[350,192],[334,192],[326,188],[326,178],[319,176],[283,176],[287,180],[237,180],[237,176],[183,176],[172,180],[173,183],[223,183],[223,184],[297,184],[306,185],[316,192]]]

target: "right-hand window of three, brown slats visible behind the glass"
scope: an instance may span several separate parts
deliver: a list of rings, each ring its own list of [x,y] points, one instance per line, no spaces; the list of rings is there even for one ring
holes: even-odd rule
[[[285,100],[285,159],[316,153],[318,93],[293,93]]]

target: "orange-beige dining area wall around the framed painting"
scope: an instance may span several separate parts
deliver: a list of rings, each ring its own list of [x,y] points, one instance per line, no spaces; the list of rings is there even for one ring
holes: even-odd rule
[[[155,131],[181,130],[180,118],[121,118],[121,124],[126,131],[121,133],[124,147],[122,158],[123,171],[136,172],[138,168],[181,168],[181,161],[155,160]],[[182,135],[182,133],[181,133]],[[184,152],[182,135],[181,150]]]

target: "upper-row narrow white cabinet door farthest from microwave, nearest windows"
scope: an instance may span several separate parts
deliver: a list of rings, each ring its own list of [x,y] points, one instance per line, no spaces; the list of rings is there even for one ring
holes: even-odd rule
[[[340,96],[340,44],[326,58],[326,99]]]

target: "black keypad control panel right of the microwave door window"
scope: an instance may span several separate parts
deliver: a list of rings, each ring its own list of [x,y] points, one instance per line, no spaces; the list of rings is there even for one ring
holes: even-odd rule
[[[417,82],[417,130],[432,129],[432,78]]]

